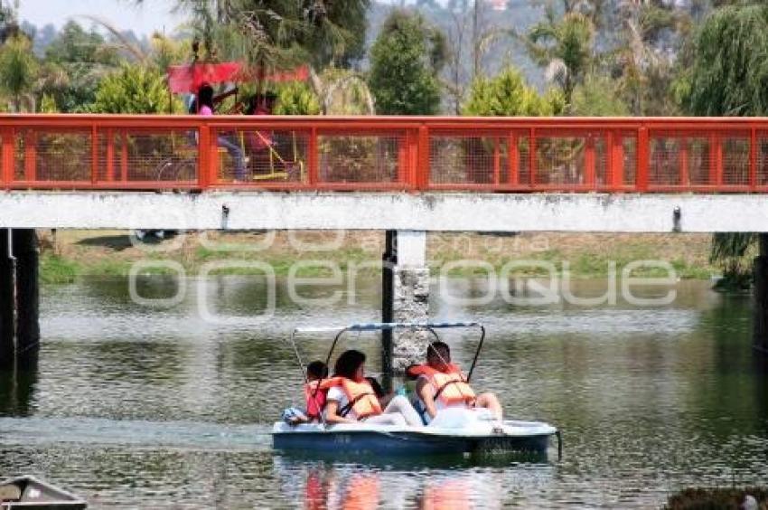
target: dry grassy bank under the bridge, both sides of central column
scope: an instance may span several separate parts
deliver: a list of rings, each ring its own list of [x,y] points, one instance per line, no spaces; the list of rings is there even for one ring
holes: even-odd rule
[[[287,274],[298,260],[331,260],[346,270],[354,264],[378,263],[384,250],[381,231],[211,231],[150,242],[132,241],[127,231],[57,231],[55,239],[51,231],[41,231],[40,236],[43,261],[53,261],[52,268],[98,276],[125,275],[136,260],[146,259],[178,261],[187,274],[197,274],[203,264],[213,260],[264,261],[278,275]],[[621,270],[632,260],[664,260],[682,278],[708,278],[717,272],[708,262],[709,241],[707,234],[430,233],[427,260],[435,270],[454,260],[482,261],[494,269],[511,260],[539,260],[558,271],[567,262],[572,276],[580,278],[604,277],[612,262]],[[323,269],[305,271],[320,274]],[[361,272],[378,271],[368,268]],[[452,274],[478,272],[482,270],[465,267]]]

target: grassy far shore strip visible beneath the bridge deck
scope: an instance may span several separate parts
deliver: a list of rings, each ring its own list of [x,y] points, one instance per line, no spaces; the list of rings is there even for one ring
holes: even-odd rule
[[[70,283],[82,277],[126,277],[136,262],[140,274],[263,274],[258,267],[229,267],[210,272],[214,262],[268,264],[276,276],[304,278],[380,274],[384,235],[380,231],[256,231],[149,233],[144,241],[130,231],[38,231],[41,279]],[[709,261],[707,234],[600,234],[535,232],[429,233],[427,263],[433,276],[557,274],[574,279],[617,278],[627,264],[642,260],[669,263],[679,279],[712,279],[720,269]],[[169,267],[171,262],[175,269]],[[165,265],[163,265],[165,263]],[[236,266],[236,264],[231,264]],[[292,273],[293,271],[293,273]],[[338,272],[336,272],[338,274]],[[642,264],[632,277],[667,277],[664,269]]]

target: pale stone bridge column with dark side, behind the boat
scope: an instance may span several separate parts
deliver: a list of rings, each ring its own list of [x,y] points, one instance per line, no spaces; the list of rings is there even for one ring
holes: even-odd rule
[[[383,256],[381,319],[383,322],[425,322],[429,312],[429,269],[425,231],[387,231]],[[383,332],[384,373],[403,373],[424,359],[426,331]]]

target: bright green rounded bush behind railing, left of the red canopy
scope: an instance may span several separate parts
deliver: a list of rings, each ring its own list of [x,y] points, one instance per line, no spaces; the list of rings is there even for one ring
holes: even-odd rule
[[[124,64],[120,71],[108,75],[98,84],[92,113],[173,113],[182,111],[173,99],[164,75],[141,66]]]

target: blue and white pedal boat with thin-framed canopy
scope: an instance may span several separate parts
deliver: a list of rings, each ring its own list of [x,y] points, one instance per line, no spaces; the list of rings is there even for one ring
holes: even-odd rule
[[[296,328],[291,335],[291,343],[304,373],[304,364],[295,343],[295,336],[300,333],[337,333],[326,360],[326,364],[329,364],[335,345],[347,332],[417,328],[426,329],[437,338],[437,329],[473,327],[480,329],[481,339],[467,376],[469,380],[485,337],[485,328],[478,323],[374,323],[342,328]],[[505,420],[501,427],[499,425],[485,410],[453,408],[438,412],[428,425],[419,427],[376,425],[365,421],[335,425],[323,422],[290,425],[285,421],[277,421],[272,429],[272,440],[274,449],[286,452],[388,456],[524,453],[546,457],[551,439],[557,437],[558,457],[561,455],[559,431],[548,423]]]

